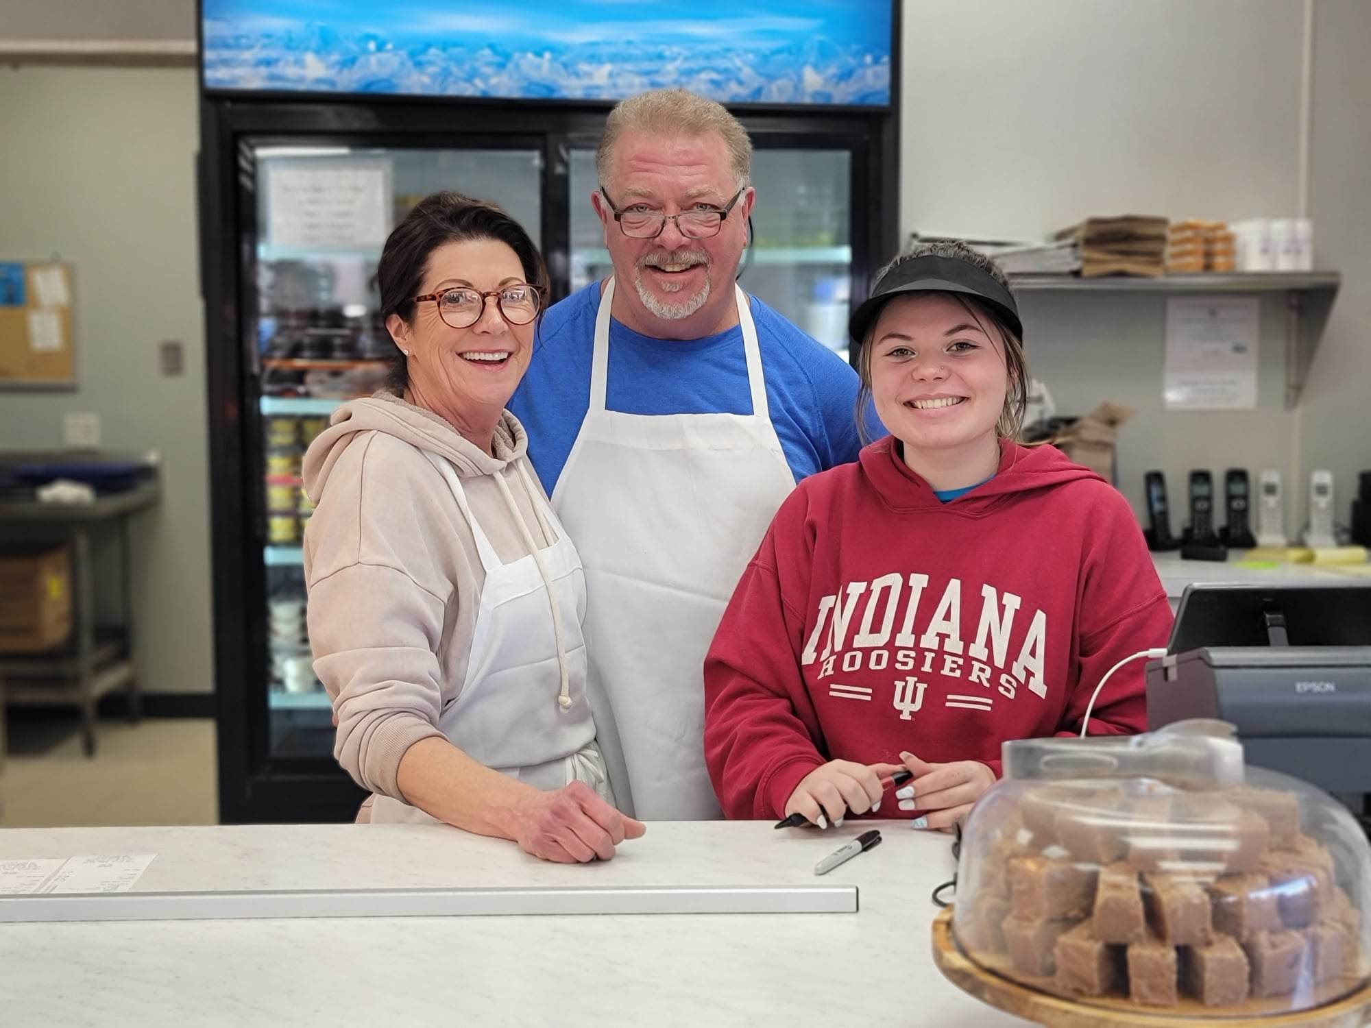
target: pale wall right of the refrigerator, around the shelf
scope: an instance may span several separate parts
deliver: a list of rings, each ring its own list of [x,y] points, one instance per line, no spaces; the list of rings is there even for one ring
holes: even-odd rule
[[[1318,0],[1316,7],[1334,5]],[[1342,82],[1337,101],[1318,100],[1315,121],[1326,141],[1315,152],[1315,182],[1330,193],[1315,210],[1318,251],[1331,267],[1349,259],[1353,238],[1366,245],[1366,233],[1357,237],[1350,225],[1339,232],[1333,222],[1346,222],[1371,181],[1359,121],[1371,79],[1349,49],[1366,38],[1352,22],[1355,11],[1364,22],[1367,5],[1341,0],[1335,10],[1345,25],[1320,30],[1315,56],[1320,82]],[[903,33],[906,234],[1039,238],[1087,214],[1238,219],[1298,210],[1305,36],[1298,0],[906,0]],[[1327,56],[1326,37],[1337,38]],[[1350,188],[1355,181],[1360,189]],[[1333,193],[1341,201],[1333,203]],[[1364,259],[1342,270],[1349,280],[1371,274]],[[1334,315],[1341,325],[1359,318],[1349,293],[1360,288],[1349,281],[1344,289]],[[1309,459],[1334,461],[1323,456],[1324,444],[1315,456],[1315,433],[1305,433],[1305,447],[1298,443],[1300,418],[1311,429],[1322,425],[1316,406],[1324,402],[1344,403],[1363,437],[1371,435],[1371,418],[1352,408],[1353,387],[1328,382],[1330,376],[1348,381],[1337,370],[1345,362],[1346,371],[1360,367],[1361,381],[1368,377],[1360,363],[1366,348],[1338,355],[1331,336],[1348,329],[1337,325],[1315,365],[1324,384],[1307,396],[1302,413],[1283,410],[1282,297],[1263,304],[1260,406],[1234,413],[1163,411],[1163,299],[1038,295],[1023,306],[1030,365],[1063,413],[1082,414],[1102,399],[1138,410],[1120,437],[1119,470],[1139,513],[1142,476],[1152,467],[1167,472],[1178,506],[1193,467],[1216,474],[1228,466],[1278,467],[1293,477],[1307,473]],[[1356,463],[1350,448],[1339,436],[1339,469]],[[1360,466],[1368,463],[1363,456]],[[1350,481],[1341,488],[1345,493]],[[1286,489],[1287,528],[1304,518],[1304,492]]]

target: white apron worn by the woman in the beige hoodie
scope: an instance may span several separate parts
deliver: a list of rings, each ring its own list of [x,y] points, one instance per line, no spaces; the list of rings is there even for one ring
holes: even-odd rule
[[[520,462],[524,488],[539,521],[547,537],[557,541],[539,551],[520,519],[525,544],[533,552],[502,563],[472,517],[457,472],[447,461],[432,454],[425,456],[447,480],[457,506],[472,526],[485,569],[466,677],[457,699],[443,707],[439,729],[472,759],[535,788],[558,790],[579,779],[613,803],[585,696],[585,640],[581,635],[585,577],[576,547]],[[498,484],[506,489],[510,517],[520,518],[503,478],[498,478]],[[558,604],[555,617],[550,591]],[[558,643],[565,663],[558,661]],[[435,822],[436,818],[378,795],[372,806],[372,822],[383,821]]]

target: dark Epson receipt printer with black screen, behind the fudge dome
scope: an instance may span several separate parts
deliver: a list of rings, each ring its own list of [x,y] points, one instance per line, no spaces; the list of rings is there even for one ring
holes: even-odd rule
[[[1366,802],[1371,581],[1190,585],[1167,652],[1148,662],[1149,731],[1228,721],[1249,763]]]

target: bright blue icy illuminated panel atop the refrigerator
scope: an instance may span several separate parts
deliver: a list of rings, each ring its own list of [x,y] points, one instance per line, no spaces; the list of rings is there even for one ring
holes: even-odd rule
[[[884,104],[890,0],[204,0],[206,85]]]

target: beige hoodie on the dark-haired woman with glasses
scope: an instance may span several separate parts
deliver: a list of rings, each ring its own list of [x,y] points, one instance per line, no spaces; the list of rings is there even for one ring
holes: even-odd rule
[[[485,581],[472,529],[424,451],[454,465],[502,561],[528,547],[494,476],[539,548],[553,541],[518,473],[528,436],[509,411],[494,450],[377,393],[339,407],[304,455],[304,488],[318,504],[304,532],[314,672],[337,714],[333,754],[372,792],[403,800],[395,777],[404,751],[443,735],[439,713],[462,688]]]

